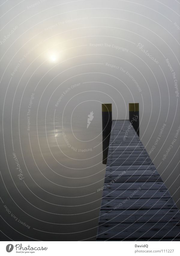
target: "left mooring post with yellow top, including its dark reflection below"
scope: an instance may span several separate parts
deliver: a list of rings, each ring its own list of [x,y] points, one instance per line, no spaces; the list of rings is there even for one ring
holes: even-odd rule
[[[103,164],[107,163],[112,125],[112,104],[102,104]]]

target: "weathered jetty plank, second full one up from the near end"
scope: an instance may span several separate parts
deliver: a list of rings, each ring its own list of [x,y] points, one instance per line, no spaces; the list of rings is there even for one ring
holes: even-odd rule
[[[178,209],[100,211],[99,223],[177,222]],[[180,230],[179,230],[180,231]]]

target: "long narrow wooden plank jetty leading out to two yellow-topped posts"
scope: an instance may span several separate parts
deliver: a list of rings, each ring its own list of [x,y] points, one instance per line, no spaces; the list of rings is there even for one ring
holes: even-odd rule
[[[179,210],[129,120],[112,121],[97,234],[108,240],[180,241]]]

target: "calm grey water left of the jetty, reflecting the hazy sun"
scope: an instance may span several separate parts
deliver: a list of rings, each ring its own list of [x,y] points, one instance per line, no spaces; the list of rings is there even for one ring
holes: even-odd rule
[[[106,165],[101,113],[96,112],[88,129],[87,114],[81,112],[72,121],[67,117],[62,123],[58,112],[46,118],[41,112],[36,126],[31,113],[30,130],[22,115],[19,131],[17,120],[12,121],[13,141],[11,124],[5,121],[8,167],[2,170],[6,186],[1,186],[2,217],[13,227],[8,226],[11,239],[95,240],[102,197],[97,190],[104,184]]]

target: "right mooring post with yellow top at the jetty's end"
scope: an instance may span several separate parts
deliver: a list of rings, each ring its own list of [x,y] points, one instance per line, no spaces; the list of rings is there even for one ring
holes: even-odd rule
[[[129,121],[134,127],[137,135],[140,137],[140,119],[139,119],[139,103],[129,103]]]

